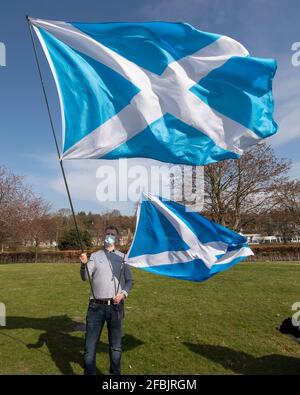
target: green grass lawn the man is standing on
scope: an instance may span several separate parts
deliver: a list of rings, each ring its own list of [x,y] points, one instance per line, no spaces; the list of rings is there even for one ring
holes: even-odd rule
[[[300,301],[300,263],[241,263],[205,283],[133,270],[123,374],[300,374],[276,330]],[[82,374],[88,283],[76,264],[0,265],[0,374]],[[109,367],[107,331],[97,365]]]

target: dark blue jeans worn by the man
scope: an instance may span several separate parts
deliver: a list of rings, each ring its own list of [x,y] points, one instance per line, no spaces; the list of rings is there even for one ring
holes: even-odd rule
[[[122,321],[124,301],[118,305],[89,303],[86,317],[84,345],[84,374],[96,374],[96,351],[103,326],[106,322],[109,342],[110,374],[121,374]]]

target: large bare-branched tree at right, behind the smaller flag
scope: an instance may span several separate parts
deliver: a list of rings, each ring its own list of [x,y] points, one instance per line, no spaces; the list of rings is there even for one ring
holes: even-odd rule
[[[242,217],[271,210],[278,202],[276,186],[287,181],[290,162],[278,159],[265,142],[251,147],[240,159],[205,168],[205,211],[216,222],[240,230]]]

